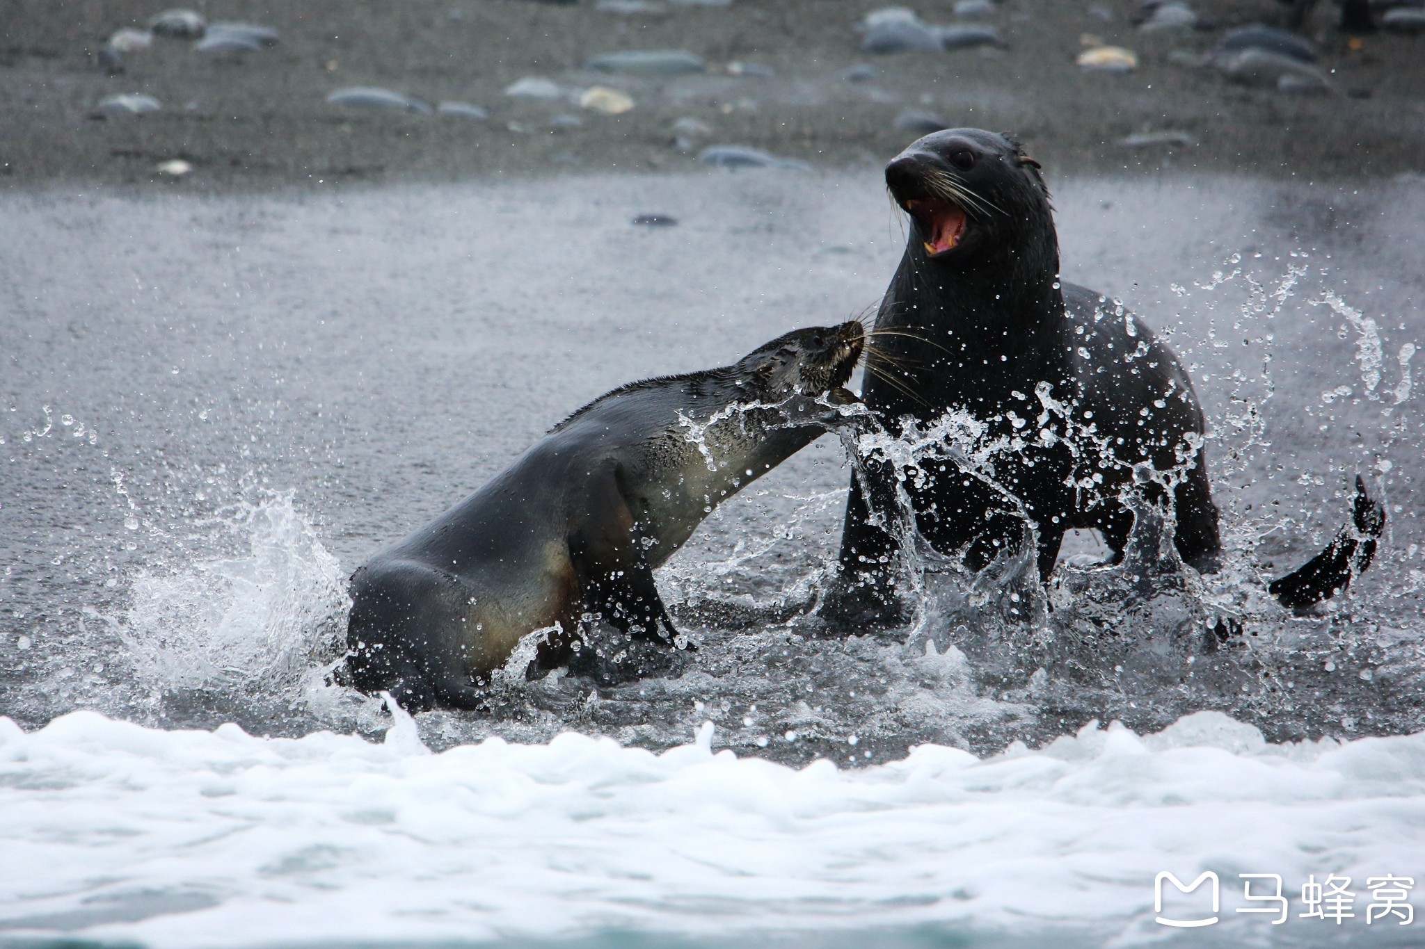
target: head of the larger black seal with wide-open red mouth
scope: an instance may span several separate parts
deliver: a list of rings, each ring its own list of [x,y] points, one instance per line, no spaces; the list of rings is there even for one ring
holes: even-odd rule
[[[886,186],[915,222],[912,249],[938,265],[1045,250],[1057,262],[1039,162],[1007,135],[979,128],[926,135],[886,165]],[[1046,238],[1049,246],[1039,246]]]

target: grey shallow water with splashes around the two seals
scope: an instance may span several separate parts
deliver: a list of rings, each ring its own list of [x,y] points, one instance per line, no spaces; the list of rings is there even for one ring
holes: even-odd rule
[[[1233,565],[1174,609],[1226,610],[1244,632],[1201,679],[1164,656],[1151,605],[1090,616],[1103,642],[1039,636],[1020,652],[1015,630],[985,640],[942,622],[936,583],[953,578],[926,588],[913,630],[824,637],[801,613],[845,504],[828,437],[660,572],[701,643],[673,674],[512,686],[490,713],[420,716],[426,740],[574,727],[667,747],[711,719],[714,743],[740,753],[865,763],[1203,707],[1270,738],[1419,730],[1425,437],[1402,347],[1425,340],[1425,182],[1052,184],[1064,277],[1167,336],[1213,420]],[[372,703],[321,674],[339,654],[342,580],[365,556],[620,383],[865,312],[903,242],[875,174],[0,205],[0,714],[26,726],[93,707],[376,730]],[[640,213],[680,223],[634,226]],[[1331,538],[1357,472],[1389,507],[1378,563],[1349,596],[1290,617],[1261,586]],[[1066,556],[1094,551],[1080,536]],[[1112,592],[1109,573],[1064,576]],[[1066,589],[1050,637],[1083,619]],[[1140,629],[1146,652],[1130,643]]]

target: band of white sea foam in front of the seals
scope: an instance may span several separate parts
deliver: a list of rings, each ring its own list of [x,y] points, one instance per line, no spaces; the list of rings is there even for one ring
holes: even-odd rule
[[[403,716],[385,744],[0,719],[0,932],[191,948],[932,926],[1136,945],[1170,935],[1154,875],[1207,869],[1223,922],[1193,945],[1340,939],[1297,916],[1307,876],[1332,872],[1357,884],[1351,945],[1416,929],[1368,928],[1364,884],[1425,876],[1425,734],[1271,746],[1197,713],[849,771],[711,740],[429,754]],[[1250,872],[1282,876],[1285,925],[1234,912]]]

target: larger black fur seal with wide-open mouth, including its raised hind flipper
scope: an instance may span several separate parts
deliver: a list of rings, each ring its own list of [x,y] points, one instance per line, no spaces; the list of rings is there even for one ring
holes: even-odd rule
[[[1059,240],[1039,164],[1017,142],[972,128],[913,142],[886,166],[911,235],[876,317],[864,401],[892,434],[949,410],[999,448],[903,477],[892,462],[854,475],[841,575],[822,615],[855,626],[898,617],[898,484],[915,528],[980,571],[1039,535],[1039,572],[1066,531],[1097,528],[1116,558],[1133,525],[1129,491],[1171,494],[1184,562],[1216,569],[1217,508],[1203,455],[1203,410],[1173,351],[1131,313],[1059,279]],[[992,470],[992,477],[976,477]],[[1358,482],[1359,485],[1359,482]],[[1357,531],[1273,585],[1288,606],[1331,596],[1369,563],[1384,511],[1359,487]],[[1365,541],[1369,539],[1369,544]]]

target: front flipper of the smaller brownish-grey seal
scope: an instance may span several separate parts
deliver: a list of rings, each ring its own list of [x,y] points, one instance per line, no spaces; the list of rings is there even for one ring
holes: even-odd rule
[[[569,538],[584,608],[624,635],[671,642],[677,629],[658,596],[644,549],[644,534],[616,472],[596,472],[586,514]]]

